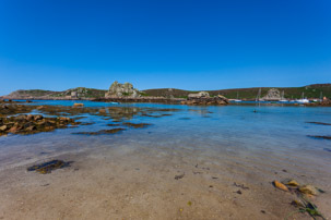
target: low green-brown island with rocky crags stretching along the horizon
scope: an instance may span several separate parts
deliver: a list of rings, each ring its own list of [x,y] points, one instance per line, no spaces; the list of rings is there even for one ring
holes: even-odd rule
[[[271,90],[272,89],[272,90]],[[312,84],[303,87],[252,87],[252,88],[232,88],[218,90],[205,90],[210,97],[224,96],[228,99],[255,100],[260,93],[261,97],[268,97],[271,91],[274,96],[283,95],[286,99],[302,98],[303,94],[308,99],[320,98],[321,96],[331,97],[331,84]],[[111,99],[111,98],[166,98],[166,99],[187,99],[190,94],[199,94],[200,90],[185,90],[178,88],[154,88],[138,90],[132,84],[119,84],[114,82],[109,89],[96,89],[78,87],[63,91],[52,91],[43,89],[15,90],[1,97],[2,99]]]

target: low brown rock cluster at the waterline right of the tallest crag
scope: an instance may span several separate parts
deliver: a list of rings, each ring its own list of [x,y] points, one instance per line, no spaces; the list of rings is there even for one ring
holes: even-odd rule
[[[182,105],[190,106],[224,106],[228,105],[228,99],[224,96],[190,96],[187,100],[181,101]]]

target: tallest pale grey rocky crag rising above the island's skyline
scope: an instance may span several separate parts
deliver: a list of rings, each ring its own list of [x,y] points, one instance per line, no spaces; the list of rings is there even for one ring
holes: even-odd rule
[[[120,84],[115,81],[109,90],[105,94],[105,98],[137,98],[140,97],[140,91],[133,88],[130,83]]]

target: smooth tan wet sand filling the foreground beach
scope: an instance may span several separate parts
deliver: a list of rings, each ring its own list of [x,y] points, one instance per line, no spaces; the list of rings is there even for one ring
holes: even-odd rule
[[[74,163],[50,174],[27,172],[34,162],[16,161],[0,171],[0,219],[284,219],[297,210],[289,205],[295,195],[274,188],[274,179],[331,190],[330,173],[322,168],[319,179],[302,176],[304,168],[298,174],[295,164],[270,164],[258,157],[113,146],[58,155]],[[35,160],[46,158],[52,157]],[[315,203],[331,217],[330,193]],[[311,218],[296,213],[289,219]]]

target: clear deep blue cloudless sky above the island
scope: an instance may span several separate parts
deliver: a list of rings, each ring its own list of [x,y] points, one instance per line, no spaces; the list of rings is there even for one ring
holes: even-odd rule
[[[330,0],[1,0],[0,95],[331,82]]]

